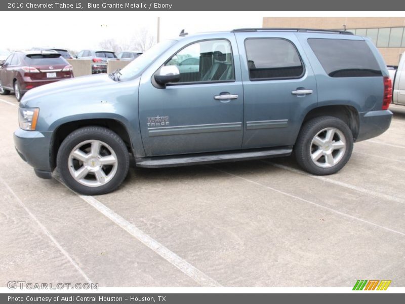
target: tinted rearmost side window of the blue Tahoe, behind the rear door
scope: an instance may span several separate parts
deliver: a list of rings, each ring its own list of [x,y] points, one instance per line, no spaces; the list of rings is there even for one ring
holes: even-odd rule
[[[365,41],[310,38],[308,44],[330,77],[382,75],[380,66]]]

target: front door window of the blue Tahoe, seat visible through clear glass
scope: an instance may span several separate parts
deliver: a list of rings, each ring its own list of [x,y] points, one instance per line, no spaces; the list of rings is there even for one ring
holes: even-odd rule
[[[200,41],[180,50],[165,66],[175,65],[180,71],[179,83],[235,80],[229,41]]]

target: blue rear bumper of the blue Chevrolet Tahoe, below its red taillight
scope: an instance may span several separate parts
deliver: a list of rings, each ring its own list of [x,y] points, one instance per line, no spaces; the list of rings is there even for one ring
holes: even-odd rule
[[[359,131],[356,142],[383,134],[389,128],[391,119],[390,110],[359,113]]]

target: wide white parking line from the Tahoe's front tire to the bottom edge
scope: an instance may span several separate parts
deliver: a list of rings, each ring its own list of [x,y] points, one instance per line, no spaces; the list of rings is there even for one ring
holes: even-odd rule
[[[56,178],[61,184],[66,186],[59,178]],[[66,186],[67,187],[67,186]],[[207,276],[205,273],[201,272],[200,270],[196,269],[193,265],[189,262],[178,256],[176,253],[165,247],[164,245],[157,242],[155,239],[144,233],[140,230],[137,226],[127,221],[125,218],[121,217],[110,208],[102,204],[100,201],[95,199],[92,196],[85,196],[79,195],[75,193],[80,199],[84,200],[86,203],[93,206],[97,211],[101,212],[103,215],[108,217],[112,222],[120,226],[130,235],[135,237],[138,241],[152,249],[155,253],[163,257],[169,263],[174,265],[178,268],[181,272],[185,275],[189,276],[195,282],[200,284],[203,287],[221,287],[222,285],[219,284],[214,279]]]

